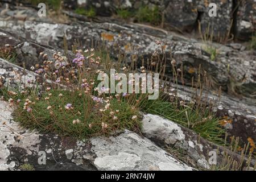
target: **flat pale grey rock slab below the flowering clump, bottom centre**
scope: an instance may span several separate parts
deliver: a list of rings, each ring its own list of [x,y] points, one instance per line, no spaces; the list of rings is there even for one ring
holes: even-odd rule
[[[125,130],[118,137],[90,139],[97,158],[94,165],[100,170],[163,170],[191,171],[148,139]]]

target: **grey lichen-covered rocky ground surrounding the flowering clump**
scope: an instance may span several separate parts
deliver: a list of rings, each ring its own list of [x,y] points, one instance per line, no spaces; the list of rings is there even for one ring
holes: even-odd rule
[[[15,87],[20,81],[28,84],[28,79],[35,80],[36,73],[29,70],[32,65],[42,63],[40,52],[50,57],[55,51],[60,51],[72,57],[74,42],[82,48],[104,44],[113,59],[124,54],[128,62],[134,56],[139,62],[151,56],[159,41],[170,55],[168,62],[175,59],[177,65],[182,64],[188,72],[187,84],[167,90],[167,94],[191,100],[189,83],[201,65],[214,83],[213,90],[203,93],[203,97],[209,104],[217,103],[213,111],[218,117],[228,117],[232,121],[224,125],[228,137],[240,137],[243,144],[248,142],[248,138],[256,141],[255,51],[246,48],[245,43],[214,43],[218,54],[212,60],[212,55],[204,49],[205,42],[187,35],[189,31],[195,34],[197,20],[201,21],[203,29],[207,27],[207,22],[213,23],[214,36],[228,31],[230,12],[234,10],[236,1],[216,1],[221,6],[216,19],[209,19],[207,15],[204,3],[208,1],[163,1],[164,5],[160,1],[147,1],[148,5],[155,4],[166,13],[165,28],[107,17],[117,9],[112,1],[70,2],[64,1],[65,10],[59,15],[63,20],[60,23],[49,16],[40,18],[38,10],[26,2],[22,2],[26,6],[16,6],[13,1],[0,1],[0,48],[10,49],[16,58],[14,63],[7,61],[6,57],[0,58],[0,87]],[[72,13],[71,10],[77,6],[86,6],[85,2],[95,6],[101,16],[88,19]],[[134,1],[123,1],[121,5],[131,9],[140,6]],[[250,22],[256,14],[254,5],[255,1],[248,1],[235,10],[232,31],[239,40],[246,40],[254,31]],[[173,29],[185,33],[170,31]],[[168,76],[171,75],[171,64],[167,66],[170,69],[166,73]],[[222,88],[220,101],[216,92],[219,86]],[[240,154],[209,142],[194,131],[158,115],[143,114],[141,134],[125,130],[109,138],[94,137],[82,141],[23,129],[13,121],[12,112],[8,102],[0,101],[0,170],[19,170],[24,164],[30,164],[36,170],[196,170],[210,168],[209,151],[218,151],[218,163],[226,154],[237,160],[242,158]],[[163,146],[182,150],[187,160],[181,160]],[[242,161],[243,166],[248,160],[245,158]],[[255,159],[250,163],[253,167]]]

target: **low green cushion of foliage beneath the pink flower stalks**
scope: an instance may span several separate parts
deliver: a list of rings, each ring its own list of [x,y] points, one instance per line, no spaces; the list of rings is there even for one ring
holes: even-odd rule
[[[59,94],[63,96],[60,97]],[[46,97],[49,97],[49,100],[46,100]],[[28,99],[32,111],[23,109],[24,103],[28,102],[23,100],[14,112],[14,119],[32,130],[84,139],[95,135],[109,135],[123,129],[139,129],[138,110],[116,99],[110,100],[110,107],[106,111],[99,110],[103,104],[93,101],[88,94],[79,91],[51,90],[40,98],[34,94]],[[65,109],[67,104],[72,104],[73,108]],[[51,106],[51,109],[47,109],[48,106]],[[113,114],[110,114],[111,111]],[[134,115],[138,115],[138,118],[132,119]],[[113,119],[114,116],[117,119]],[[77,119],[79,122],[73,123]],[[108,127],[102,127],[102,123]]]

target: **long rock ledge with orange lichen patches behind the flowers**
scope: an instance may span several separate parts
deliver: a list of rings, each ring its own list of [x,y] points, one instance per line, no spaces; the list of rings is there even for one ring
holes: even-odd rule
[[[181,64],[184,65],[184,71],[188,74],[188,78],[191,79],[192,76],[196,76],[199,72],[197,68],[201,65],[201,69],[207,71],[212,78],[210,81],[216,88],[222,86],[223,90],[231,94],[254,97],[256,56],[249,51],[216,44],[218,55],[216,60],[212,61],[211,55],[204,51],[205,44],[189,39],[187,41],[175,41],[177,37],[171,32],[165,31],[160,38],[148,35],[147,32],[143,32],[145,31],[143,27],[135,24],[128,28],[115,23],[85,22],[83,26],[80,24],[72,26],[30,21],[1,21],[0,27],[28,40],[60,49],[64,45],[64,36],[67,39],[69,49],[76,41],[79,41],[83,48],[104,43],[111,50],[110,53],[115,59],[121,52],[125,53],[125,58],[128,61],[131,61],[134,55],[138,57],[138,60],[150,58],[152,53],[159,49],[155,42],[160,40],[166,46],[166,55],[171,53],[171,57],[177,61],[178,67]],[[133,27],[136,28],[133,29]],[[137,31],[138,29],[141,32]],[[163,38],[164,34],[167,35]],[[167,67],[166,73],[171,73],[170,57],[167,56],[167,59],[169,68]],[[190,81],[188,80],[188,82]]]

